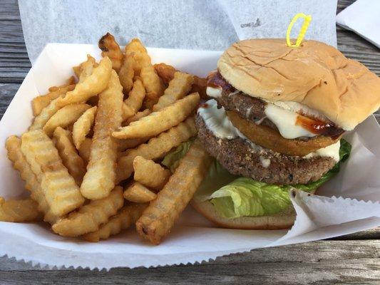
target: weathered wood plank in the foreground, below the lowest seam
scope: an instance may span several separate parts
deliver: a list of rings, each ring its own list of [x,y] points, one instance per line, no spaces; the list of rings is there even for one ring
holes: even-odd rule
[[[380,241],[324,241],[255,249],[197,265],[150,269],[36,269],[0,259],[1,284],[379,284]],[[120,283],[119,283],[120,282]]]

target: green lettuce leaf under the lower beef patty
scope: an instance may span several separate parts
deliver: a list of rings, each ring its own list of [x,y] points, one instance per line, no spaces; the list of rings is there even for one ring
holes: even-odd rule
[[[192,141],[184,142],[176,150],[170,152],[163,160],[163,164],[174,171],[191,143]],[[231,175],[217,160],[214,160],[194,199],[210,200],[217,212],[228,218],[258,217],[282,212],[291,204],[289,190],[297,188],[311,192],[317,189],[339,172],[341,163],[349,157],[350,152],[349,142],[341,140],[339,162],[319,180],[306,185],[270,185],[251,178],[238,177]]]

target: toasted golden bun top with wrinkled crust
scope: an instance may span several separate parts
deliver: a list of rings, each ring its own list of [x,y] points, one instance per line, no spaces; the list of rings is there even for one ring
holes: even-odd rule
[[[303,41],[252,39],[232,44],[217,62],[236,89],[269,101],[294,101],[352,130],[380,107],[380,78],[337,48]]]

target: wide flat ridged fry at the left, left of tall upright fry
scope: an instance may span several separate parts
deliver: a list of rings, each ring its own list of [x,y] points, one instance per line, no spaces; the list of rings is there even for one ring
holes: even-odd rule
[[[42,130],[24,133],[21,151],[41,181],[41,190],[54,215],[63,216],[81,207],[84,199],[78,185],[63,166],[53,141]]]

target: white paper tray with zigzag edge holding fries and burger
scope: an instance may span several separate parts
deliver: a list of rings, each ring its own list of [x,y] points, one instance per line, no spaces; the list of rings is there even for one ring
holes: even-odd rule
[[[154,63],[169,63],[198,76],[215,69],[221,54],[221,51],[160,48],[148,48],[148,52]],[[31,99],[46,92],[51,85],[64,83],[73,74],[71,67],[85,61],[87,53],[100,57],[96,46],[57,43],[46,46],[0,121],[1,145],[9,135],[21,135],[28,128],[32,118]],[[312,241],[376,227],[380,224],[379,204],[374,204],[380,201],[380,145],[379,125],[374,117],[359,125],[347,140],[353,146],[351,157],[320,193],[353,199],[309,197],[299,193],[292,198],[297,221],[289,232],[220,229],[191,207],[185,210],[173,232],[159,246],[143,241],[133,230],[92,244],[59,237],[44,224],[0,222],[0,256],[7,254],[33,264],[91,269],[193,264],[233,252]],[[16,170],[11,168],[4,147],[0,147],[0,167],[0,196],[25,195],[24,185]]]

